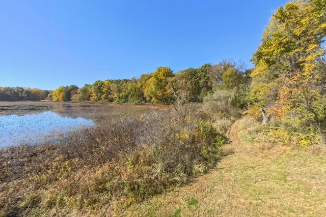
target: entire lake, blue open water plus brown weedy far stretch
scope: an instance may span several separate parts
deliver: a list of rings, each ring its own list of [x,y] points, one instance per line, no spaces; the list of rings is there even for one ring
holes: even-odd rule
[[[158,106],[69,102],[1,102],[0,148],[57,143],[86,127],[105,125],[115,116],[148,112]]]

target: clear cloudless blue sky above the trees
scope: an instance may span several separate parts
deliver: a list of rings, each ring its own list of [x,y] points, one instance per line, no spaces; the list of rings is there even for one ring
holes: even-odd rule
[[[222,59],[251,68],[287,0],[2,0],[0,86],[56,89]]]

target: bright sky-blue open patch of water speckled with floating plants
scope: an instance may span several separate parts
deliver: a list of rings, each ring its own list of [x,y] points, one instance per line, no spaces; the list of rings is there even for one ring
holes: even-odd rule
[[[93,120],[62,117],[51,111],[22,116],[0,116],[0,147],[53,142],[58,135],[89,126],[95,126]]]

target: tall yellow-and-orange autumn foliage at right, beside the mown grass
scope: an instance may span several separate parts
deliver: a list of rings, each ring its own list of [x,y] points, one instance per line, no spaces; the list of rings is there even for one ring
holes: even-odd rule
[[[252,109],[263,115],[282,119],[291,114],[302,126],[315,126],[322,143],[326,142],[325,36],[325,0],[291,1],[278,8],[253,54],[249,95]]]

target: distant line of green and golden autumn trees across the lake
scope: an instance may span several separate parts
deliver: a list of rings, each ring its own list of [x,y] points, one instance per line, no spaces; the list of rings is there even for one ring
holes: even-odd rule
[[[22,87],[0,87],[0,100],[102,101],[114,103],[171,104],[176,100],[202,102],[214,88],[232,89],[240,84],[249,85],[251,70],[242,64],[223,60],[217,65],[205,64],[174,73],[169,67],[158,67],[155,72],[139,78],[108,79],[85,84],[60,86],[41,90]]]

